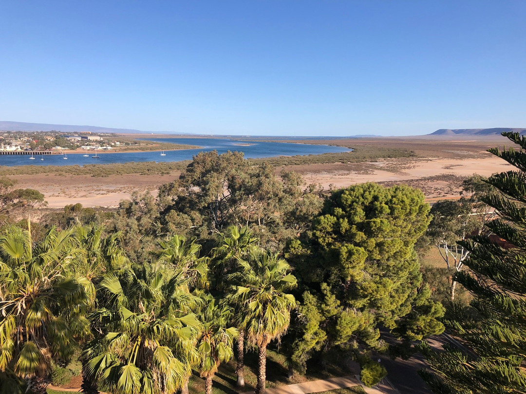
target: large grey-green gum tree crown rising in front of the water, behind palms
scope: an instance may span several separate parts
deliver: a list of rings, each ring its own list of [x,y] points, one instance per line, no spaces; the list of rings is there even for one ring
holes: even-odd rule
[[[302,186],[297,174],[278,178],[270,165],[254,165],[240,152],[200,152],[178,180],[159,188],[161,231],[205,239],[248,226],[265,247],[279,250],[321,208],[321,190]]]

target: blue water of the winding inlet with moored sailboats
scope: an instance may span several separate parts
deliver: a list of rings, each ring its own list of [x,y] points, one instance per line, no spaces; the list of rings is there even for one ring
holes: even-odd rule
[[[62,155],[54,154],[49,156],[38,156],[36,160],[29,160],[30,156],[0,155],[0,165],[84,165],[84,164],[110,164],[127,162],[171,162],[181,160],[191,160],[193,155],[201,151],[217,150],[218,153],[227,151],[240,151],[245,153],[245,157],[272,157],[272,156],[294,156],[309,155],[320,153],[348,152],[349,149],[340,146],[329,145],[310,145],[293,144],[287,142],[260,142],[260,141],[235,141],[214,138],[155,138],[145,139],[156,142],[171,142],[174,144],[198,145],[198,149],[184,149],[177,151],[165,151],[166,156],[161,156],[160,152],[137,152],[137,153],[99,153],[99,159],[93,159],[94,151],[89,151],[89,157],[84,157],[83,153],[68,154],[67,160]],[[242,146],[250,143],[253,145]],[[40,159],[43,158],[44,161]]]

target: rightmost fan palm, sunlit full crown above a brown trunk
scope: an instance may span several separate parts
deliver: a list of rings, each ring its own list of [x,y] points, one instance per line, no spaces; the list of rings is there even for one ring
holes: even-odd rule
[[[232,286],[227,300],[240,307],[247,341],[258,347],[256,394],[265,392],[267,346],[289,327],[296,300],[288,291],[296,287],[290,265],[277,254],[261,251],[249,262],[238,261],[240,272],[228,275]]]

